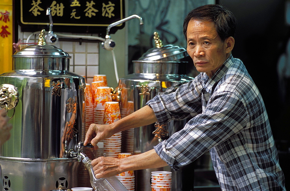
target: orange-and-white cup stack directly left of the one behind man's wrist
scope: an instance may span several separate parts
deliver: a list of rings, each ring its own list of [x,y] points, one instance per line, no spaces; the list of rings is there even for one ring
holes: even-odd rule
[[[95,98],[94,123],[103,124],[105,103],[112,101],[110,87],[97,87]]]

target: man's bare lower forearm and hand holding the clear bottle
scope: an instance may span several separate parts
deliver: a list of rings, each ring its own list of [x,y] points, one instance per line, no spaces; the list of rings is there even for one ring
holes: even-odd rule
[[[129,170],[159,168],[167,166],[154,149],[139,155],[117,159],[113,157],[99,157],[92,161],[96,178],[111,177]]]

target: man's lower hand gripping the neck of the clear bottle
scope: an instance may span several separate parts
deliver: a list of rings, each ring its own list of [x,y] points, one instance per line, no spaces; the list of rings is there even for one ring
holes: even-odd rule
[[[97,179],[120,174],[120,159],[114,157],[99,157],[92,161],[93,170]]]

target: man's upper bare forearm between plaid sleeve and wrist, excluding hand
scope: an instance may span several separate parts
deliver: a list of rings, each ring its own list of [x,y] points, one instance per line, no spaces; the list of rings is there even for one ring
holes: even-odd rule
[[[156,122],[156,116],[150,106],[144,106],[134,113],[113,123],[113,130],[115,133],[124,131],[130,128],[140,127]]]

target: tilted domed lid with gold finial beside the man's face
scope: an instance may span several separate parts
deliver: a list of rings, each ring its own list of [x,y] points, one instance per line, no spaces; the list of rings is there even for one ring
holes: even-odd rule
[[[186,49],[183,47],[173,44],[164,46],[157,32],[154,32],[154,41],[155,47],[145,52],[138,60],[176,61],[188,56]]]

